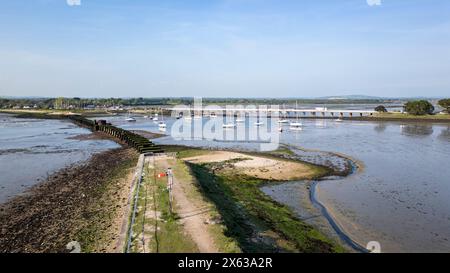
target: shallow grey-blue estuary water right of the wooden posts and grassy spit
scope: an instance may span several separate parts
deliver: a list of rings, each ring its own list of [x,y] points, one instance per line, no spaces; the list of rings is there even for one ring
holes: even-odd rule
[[[158,132],[150,119],[127,123],[107,118],[126,129]],[[208,121],[203,119],[203,123]],[[167,133],[174,119],[166,119]],[[303,130],[288,128],[280,143],[344,154],[360,168],[345,178],[320,181],[316,197],[333,220],[355,242],[380,243],[382,252],[450,251],[450,125],[403,122],[302,120]],[[265,130],[246,121],[247,131]],[[154,140],[161,144],[255,150],[251,141],[211,139]],[[301,211],[303,181],[272,186],[273,198]]]

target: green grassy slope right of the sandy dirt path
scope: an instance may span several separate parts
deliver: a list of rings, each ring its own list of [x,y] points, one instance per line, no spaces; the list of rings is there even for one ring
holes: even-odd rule
[[[344,249],[312,226],[300,221],[259,188],[267,181],[238,174],[213,174],[215,163],[189,164],[204,194],[222,215],[227,235],[234,237],[244,252],[343,252]],[[272,231],[287,241],[286,245],[254,240],[255,234]]]

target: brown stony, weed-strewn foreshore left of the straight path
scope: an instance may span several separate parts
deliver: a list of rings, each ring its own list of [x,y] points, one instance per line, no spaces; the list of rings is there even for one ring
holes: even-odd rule
[[[0,205],[0,252],[113,252],[137,155],[117,148],[52,174]],[[121,222],[120,222],[121,223]]]

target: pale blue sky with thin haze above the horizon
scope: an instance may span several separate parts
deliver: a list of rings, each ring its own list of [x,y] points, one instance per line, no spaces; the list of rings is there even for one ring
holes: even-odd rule
[[[0,96],[450,96],[448,0],[0,4]]]

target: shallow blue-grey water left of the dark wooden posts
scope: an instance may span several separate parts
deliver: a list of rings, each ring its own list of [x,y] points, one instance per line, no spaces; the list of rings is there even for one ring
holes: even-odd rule
[[[70,139],[90,131],[59,120],[17,119],[0,114],[0,132],[0,203],[58,169],[118,147],[108,140]]]

